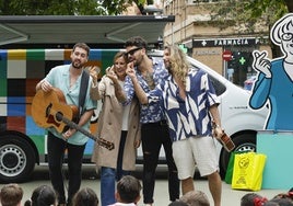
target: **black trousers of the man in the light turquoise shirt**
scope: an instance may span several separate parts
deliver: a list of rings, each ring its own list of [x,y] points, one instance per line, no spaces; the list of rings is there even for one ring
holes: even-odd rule
[[[72,197],[80,190],[82,179],[82,159],[85,145],[71,145],[48,133],[48,164],[54,190],[57,193],[59,204],[71,204]],[[68,151],[68,199],[66,202],[62,163],[65,150]]]

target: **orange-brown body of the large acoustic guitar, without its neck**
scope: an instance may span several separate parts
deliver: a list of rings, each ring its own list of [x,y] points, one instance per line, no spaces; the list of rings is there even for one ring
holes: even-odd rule
[[[32,116],[39,127],[55,127],[58,133],[67,129],[67,124],[59,116],[73,121],[78,115],[78,107],[68,105],[61,90],[55,88],[50,92],[38,90],[32,102]]]

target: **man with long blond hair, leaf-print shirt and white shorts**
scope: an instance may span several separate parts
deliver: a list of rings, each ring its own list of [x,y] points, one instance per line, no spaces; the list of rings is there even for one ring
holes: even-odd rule
[[[140,103],[160,102],[167,116],[183,195],[195,191],[197,167],[200,175],[208,179],[214,206],[221,206],[222,181],[213,139],[223,135],[218,110],[220,101],[208,73],[190,67],[178,46],[167,46],[163,59],[171,76],[149,93],[139,84],[134,69],[127,68],[126,72]]]

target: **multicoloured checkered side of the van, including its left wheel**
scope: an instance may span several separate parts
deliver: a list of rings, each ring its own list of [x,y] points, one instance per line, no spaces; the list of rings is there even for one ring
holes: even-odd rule
[[[87,66],[102,73],[113,65],[118,49],[92,49]],[[46,130],[31,115],[36,83],[58,65],[70,64],[71,49],[0,50],[0,182],[21,182],[30,178],[36,163],[47,162]],[[102,60],[103,59],[103,60]],[[92,117],[94,133],[97,111]],[[93,140],[85,148],[84,162],[91,160]]]

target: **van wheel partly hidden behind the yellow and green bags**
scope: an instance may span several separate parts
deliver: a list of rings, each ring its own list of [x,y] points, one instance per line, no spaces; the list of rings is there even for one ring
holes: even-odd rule
[[[256,151],[256,133],[242,134],[233,138],[235,149],[233,151]],[[224,179],[228,164],[231,152],[227,152],[224,148],[220,154],[220,174]]]

